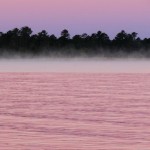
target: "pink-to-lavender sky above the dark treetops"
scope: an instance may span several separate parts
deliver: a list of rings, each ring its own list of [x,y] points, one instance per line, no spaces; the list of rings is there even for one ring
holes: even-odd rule
[[[111,38],[121,30],[150,37],[150,0],[0,0],[0,31],[29,26],[60,35],[94,33]]]

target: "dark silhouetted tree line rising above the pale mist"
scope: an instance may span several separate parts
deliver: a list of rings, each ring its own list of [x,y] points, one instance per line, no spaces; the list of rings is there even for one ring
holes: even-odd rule
[[[60,37],[54,34],[49,35],[42,30],[33,34],[31,28],[25,26],[15,28],[6,33],[0,32],[0,55],[3,54],[32,54],[38,55],[117,55],[141,53],[150,56],[150,38],[140,39],[136,32],[119,32],[114,39],[98,31],[88,35],[70,36],[67,29],[64,29]]]

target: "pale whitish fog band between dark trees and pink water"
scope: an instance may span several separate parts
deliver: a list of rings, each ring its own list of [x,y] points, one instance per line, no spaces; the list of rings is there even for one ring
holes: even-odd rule
[[[142,58],[0,59],[0,72],[150,73],[150,60]]]

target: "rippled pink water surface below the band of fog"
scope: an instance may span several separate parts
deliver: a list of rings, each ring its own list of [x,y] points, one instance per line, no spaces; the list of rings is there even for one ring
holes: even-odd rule
[[[1,73],[0,150],[150,150],[150,74]]]

